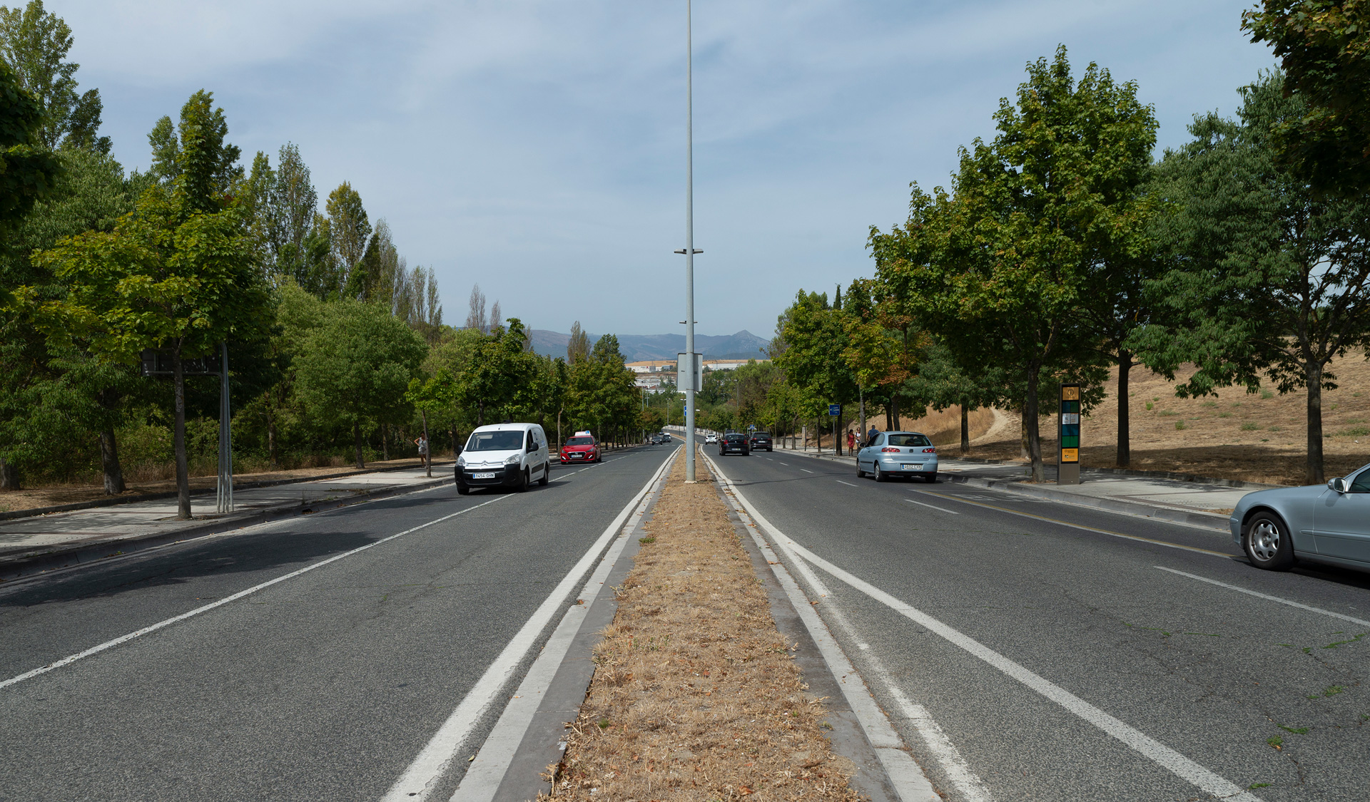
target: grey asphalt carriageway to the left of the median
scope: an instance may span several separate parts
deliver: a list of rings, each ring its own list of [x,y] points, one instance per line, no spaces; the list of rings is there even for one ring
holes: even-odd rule
[[[0,799],[379,799],[674,450],[555,468],[526,493],[447,484],[0,587],[4,682],[469,510],[0,687]]]

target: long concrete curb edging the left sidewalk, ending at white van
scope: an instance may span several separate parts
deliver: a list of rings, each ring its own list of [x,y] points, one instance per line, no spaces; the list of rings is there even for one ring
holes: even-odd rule
[[[127,538],[112,538],[108,541],[100,541],[99,543],[86,543],[86,545],[74,543],[68,547],[58,545],[45,550],[40,549],[34,552],[26,552],[22,554],[0,556],[0,583],[41,575],[48,571],[56,571],[59,568],[70,568],[73,565],[97,562],[100,560],[105,560],[110,557],[118,557],[122,554],[127,554],[130,552],[141,552],[144,549],[151,549],[166,543],[177,543],[181,541],[190,541],[195,538],[203,538],[206,535],[214,535],[230,530],[240,530],[244,527],[251,527],[273,520],[282,520],[286,516],[301,515],[304,510],[323,512],[329,509],[337,509],[340,506],[348,506],[351,504],[358,504],[359,501],[377,501],[381,498],[388,498],[390,495],[403,495],[406,493],[414,493],[416,490],[429,490],[432,487],[440,487],[443,484],[447,484],[451,480],[452,480],[451,478],[444,478],[444,479],[433,478],[419,484],[406,484],[406,486],[390,484],[388,487],[379,487],[377,490],[364,490],[355,495],[349,495],[347,498],[337,498],[332,501],[292,504],[292,505],[274,506],[269,509],[259,509],[244,513],[232,513],[225,517],[214,519],[212,521],[204,521],[200,524],[188,526],[174,532],[130,535]]]

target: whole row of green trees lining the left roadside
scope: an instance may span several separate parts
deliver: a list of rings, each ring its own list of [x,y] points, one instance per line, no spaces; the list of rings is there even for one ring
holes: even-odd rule
[[[323,214],[295,145],[244,167],[208,92],[156,123],[147,172],[126,172],[70,47],[41,0],[0,8],[0,487],[99,464],[121,493],[132,453],[174,461],[189,515],[218,387],[186,368],[216,365],[222,344],[247,464],[348,453],[360,467],[412,453],[429,426],[459,448],[464,430],[507,417],[637,428],[615,338],[540,357],[478,287],[467,327],[445,326],[433,272],[408,268],[351,185]],[[166,354],[170,382],[140,374],[144,349]]]

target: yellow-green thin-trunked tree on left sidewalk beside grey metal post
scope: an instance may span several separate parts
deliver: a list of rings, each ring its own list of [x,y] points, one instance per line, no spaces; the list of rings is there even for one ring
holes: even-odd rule
[[[181,109],[170,186],[152,186],[112,231],[59,241],[34,260],[66,283],[64,298],[30,302],[48,331],[78,333],[105,361],[134,364],[145,348],[170,350],[175,406],[178,515],[190,517],[185,450],[184,359],[226,339],[264,335],[269,297],[255,263],[248,218],[229,194],[227,126],[200,90]]]

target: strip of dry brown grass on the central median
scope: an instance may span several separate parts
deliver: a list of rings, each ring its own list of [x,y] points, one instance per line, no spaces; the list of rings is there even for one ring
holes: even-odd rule
[[[684,460],[648,521],[553,798],[860,799],[726,508]]]

